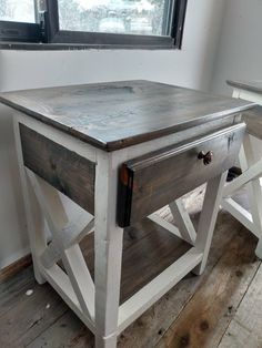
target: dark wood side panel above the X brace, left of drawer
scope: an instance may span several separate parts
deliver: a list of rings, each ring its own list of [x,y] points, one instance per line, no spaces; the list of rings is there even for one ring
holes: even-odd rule
[[[23,163],[93,214],[95,164],[20,124]]]

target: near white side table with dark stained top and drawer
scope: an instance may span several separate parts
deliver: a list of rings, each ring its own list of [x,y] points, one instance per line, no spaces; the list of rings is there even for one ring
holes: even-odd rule
[[[36,278],[53,286],[97,347],[115,347],[189,272],[204,270],[245,131],[241,113],[253,103],[148,81],[3,93],[0,101],[14,110]],[[195,233],[179,197],[204,182]],[[74,221],[59,192],[82,208]],[[178,226],[153,214],[167,204]]]

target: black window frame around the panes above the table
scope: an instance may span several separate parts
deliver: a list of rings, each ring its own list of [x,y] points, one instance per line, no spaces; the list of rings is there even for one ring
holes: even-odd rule
[[[139,35],[59,29],[58,0],[46,0],[40,23],[0,21],[0,41],[47,43],[54,47],[81,45],[99,49],[181,49],[188,0],[174,0],[170,35]]]

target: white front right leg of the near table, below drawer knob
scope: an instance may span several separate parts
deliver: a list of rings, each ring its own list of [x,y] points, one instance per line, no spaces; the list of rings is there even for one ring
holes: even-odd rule
[[[202,262],[193,270],[193,273],[196,275],[201,275],[204,272],[206,265],[226,175],[228,172],[210,180],[206,185],[204,203],[202,213],[200,215],[195,240],[196,249],[203,252]]]

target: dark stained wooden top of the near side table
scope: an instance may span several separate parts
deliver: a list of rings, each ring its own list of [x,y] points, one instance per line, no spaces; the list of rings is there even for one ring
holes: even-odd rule
[[[105,151],[175,133],[253,103],[149,81],[0,94],[0,102]]]

